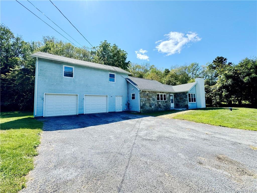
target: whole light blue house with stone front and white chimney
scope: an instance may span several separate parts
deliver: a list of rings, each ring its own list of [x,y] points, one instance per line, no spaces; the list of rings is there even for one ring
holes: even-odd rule
[[[205,107],[202,78],[171,86],[131,77],[118,67],[44,52],[31,56],[36,58],[35,117]]]

